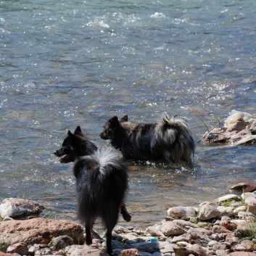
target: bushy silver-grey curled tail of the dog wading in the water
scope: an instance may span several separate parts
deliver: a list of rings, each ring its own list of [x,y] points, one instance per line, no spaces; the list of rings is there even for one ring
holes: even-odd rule
[[[155,127],[155,140],[165,148],[165,158],[172,162],[190,162],[194,157],[195,142],[188,123],[176,116],[162,114]]]

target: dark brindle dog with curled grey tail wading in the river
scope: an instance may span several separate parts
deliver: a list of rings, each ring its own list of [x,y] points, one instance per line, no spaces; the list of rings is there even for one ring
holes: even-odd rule
[[[102,139],[110,139],[125,159],[191,163],[195,142],[183,118],[163,114],[157,123],[131,123],[125,115],[112,117],[103,126]]]

